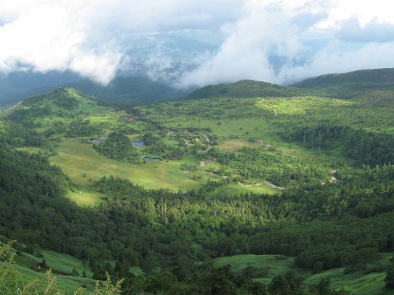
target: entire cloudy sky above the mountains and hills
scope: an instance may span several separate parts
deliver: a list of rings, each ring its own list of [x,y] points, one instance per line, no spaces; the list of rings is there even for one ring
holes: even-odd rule
[[[177,87],[286,85],[394,67],[391,14],[388,0],[2,0],[0,74],[72,71],[107,85],[142,62],[152,80],[171,75]],[[183,52],[193,66],[174,70],[179,49],[160,50],[163,34],[214,46]]]

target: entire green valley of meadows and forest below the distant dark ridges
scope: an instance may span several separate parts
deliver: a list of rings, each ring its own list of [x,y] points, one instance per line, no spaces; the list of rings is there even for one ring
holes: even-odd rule
[[[0,124],[15,267],[32,280],[37,249],[60,283],[108,272],[123,294],[390,294],[392,100],[329,91],[240,81],[123,108],[71,88],[27,99]]]

